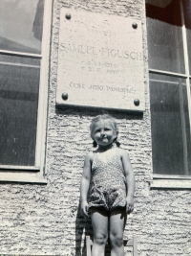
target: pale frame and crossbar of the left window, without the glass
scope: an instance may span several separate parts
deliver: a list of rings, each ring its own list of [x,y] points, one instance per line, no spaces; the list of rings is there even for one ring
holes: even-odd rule
[[[0,54],[40,58],[40,80],[37,109],[35,166],[12,166],[0,165],[0,182],[27,182],[46,184],[45,175],[45,152],[46,152],[46,127],[48,114],[48,85],[50,66],[50,42],[52,24],[53,0],[45,0],[43,16],[43,35],[41,54],[28,54],[14,51],[0,50]]]

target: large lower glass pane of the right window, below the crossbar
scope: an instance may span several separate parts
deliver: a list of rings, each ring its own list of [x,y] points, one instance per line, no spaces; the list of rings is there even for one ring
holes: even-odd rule
[[[150,74],[154,174],[191,175],[185,81]]]

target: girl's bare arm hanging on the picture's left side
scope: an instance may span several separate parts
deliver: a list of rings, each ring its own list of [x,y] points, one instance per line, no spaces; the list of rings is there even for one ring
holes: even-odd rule
[[[90,186],[92,162],[93,162],[93,153],[90,152],[85,157],[84,169],[83,169],[83,174],[81,177],[81,185],[80,185],[81,210],[86,216],[88,216],[87,196],[88,196],[88,190]]]

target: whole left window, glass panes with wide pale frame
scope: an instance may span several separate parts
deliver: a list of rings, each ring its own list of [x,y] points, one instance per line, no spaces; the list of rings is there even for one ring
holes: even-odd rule
[[[0,180],[45,182],[51,8],[0,2]]]

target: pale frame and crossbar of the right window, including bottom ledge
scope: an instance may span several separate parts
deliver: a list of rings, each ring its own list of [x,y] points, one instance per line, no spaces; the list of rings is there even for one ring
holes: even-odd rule
[[[188,101],[188,113],[189,113],[189,122],[190,122],[190,133],[191,133],[191,74],[189,72],[189,59],[188,59],[188,48],[187,48],[187,37],[186,37],[186,28],[184,22],[184,12],[182,0],[180,1],[180,15],[181,15],[181,33],[183,41],[183,57],[185,64],[185,74],[173,73],[168,71],[162,71],[157,69],[152,69],[148,67],[149,73],[173,76],[177,78],[185,79],[186,88],[187,88],[187,101]],[[147,2],[147,1],[146,1]],[[149,81],[150,82],[150,81]],[[151,130],[152,132],[152,130]],[[152,159],[152,170],[153,170],[153,159]],[[152,181],[150,183],[151,189],[191,189],[191,175],[155,175],[152,173]]]

